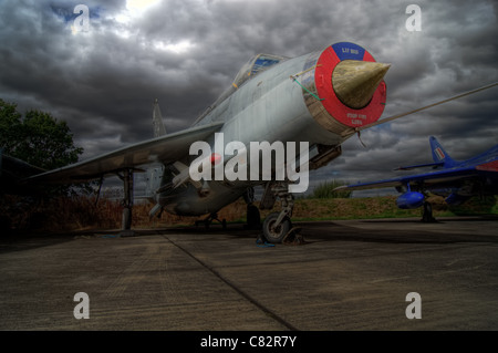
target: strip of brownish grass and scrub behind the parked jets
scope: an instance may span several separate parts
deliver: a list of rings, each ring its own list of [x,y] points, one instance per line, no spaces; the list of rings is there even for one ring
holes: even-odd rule
[[[18,196],[9,196],[8,203],[2,200],[0,215],[2,228],[10,231],[50,231],[63,232],[74,230],[121,228],[122,206],[117,200],[102,198],[95,204],[94,197],[59,197],[34,203]],[[404,210],[395,205],[396,196],[370,198],[305,198],[295,200],[292,219],[333,220],[333,219],[373,219],[422,217],[422,209]],[[473,198],[458,207],[448,207],[443,198],[433,197],[433,211],[438,217],[498,215],[498,197]],[[10,206],[7,206],[10,205]],[[12,205],[14,205],[12,207]],[[149,220],[152,205],[138,204],[133,208],[135,229],[154,229],[170,226],[194,225],[199,218],[179,217],[163,212],[160,218]],[[276,209],[278,210],[278,204]],[[271,211],[274,211],[271,210]],[[261,211],[263,219],[270,210]],[[222,208],[219,219],[229,222],[246,221],[246,203],[240,199]]]

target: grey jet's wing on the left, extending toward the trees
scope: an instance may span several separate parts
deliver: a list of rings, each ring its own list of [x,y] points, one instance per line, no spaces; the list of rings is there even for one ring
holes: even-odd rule
[[[203,141],[224,125],[222,122],[191,127],[152,138],[104,155],[25,178],[28,183],[73,184],[97,179],[125,168],[160,162],[174,163],[188,155],[190,145]]]

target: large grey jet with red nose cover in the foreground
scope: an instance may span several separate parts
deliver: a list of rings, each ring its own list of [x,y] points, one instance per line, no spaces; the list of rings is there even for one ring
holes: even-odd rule
[[[226,142],[240,142],[246,146],[261,141],[271,146],[274,142],[308,143],[308,158],[303,158],[302,150],[297,158],[308,159],[309,169],[320,168],[340,156],[342,143],[361,129],[413,113],[378,121],[386,103],[383,79],[388,68],[388,64],[375,62],[364,48],[350,42],[292,59],[258,54],[242,66],[232,85],[191,127],[168,134],[156,102],[154,138],[31,176],[27,181],[76,183],[118,175],[125,191],[124,230],[131,229],[133,174],[144,172],[144,166],[148,166],[148,188],[154,193],[151,217],[166,210],[181,216],[208,215],[206,221],[209,222],[216,219],[219,209],[243,196],[248,203],[248,222],[259,224],[259,210],[252,201],[253,187],[261,185],[264,191],[260,209],[273,208],[278,198],[281,201],[281,210],[269,215],[262,225],[267,240],[280,242],[291,229],[293,197],[289,186],[295,180],[276,178],[278,170],[273,167],[269,179],[197,180],[189,173],[196,157],[190,155],[190,146],[206,142],[216,152],[217,134],[222,134]],[[216,169],[217,165],[234,165],[230,159],[236,156],[238,154],[221,149],[208,160]],[[238,159],[238,167],[249,165],[249,156],[247,160]],[[295,162],[288,160],[288,164],[295,165]]]

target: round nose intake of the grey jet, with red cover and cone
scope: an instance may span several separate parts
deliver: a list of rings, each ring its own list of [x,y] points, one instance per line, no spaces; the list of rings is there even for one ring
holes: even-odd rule
[[[352,127],[375,123],[385,108],[384,75],[390,66],[350,42],[312,53],[301,82],[307,86],[304,102],[313,120],[339,136]]]

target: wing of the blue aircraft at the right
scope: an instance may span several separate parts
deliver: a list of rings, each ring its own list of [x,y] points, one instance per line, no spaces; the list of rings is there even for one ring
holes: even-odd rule
[[[464,178],[476,177],[481,174],[483,170],[479,170],[478,167],[456,167],[443,169],[439,172],[416,174],[416,175],[407,175],[392,179],[378,180],[378,181],[370,181],[370,183],[360,183],[353,185],[345,185],[335,188],[334,190],[366,190],[366,189],[375,189],[375,188],[384,188],[384,187],[398,187],[406,186],[408,183],[411,186],[424,185],[425,188],[429,189],[432,186],[438,186],[446,183],[452,183],[455,180],[460,180]]]

